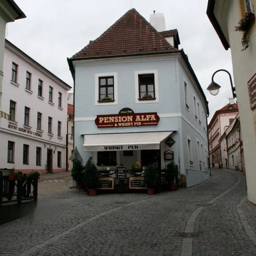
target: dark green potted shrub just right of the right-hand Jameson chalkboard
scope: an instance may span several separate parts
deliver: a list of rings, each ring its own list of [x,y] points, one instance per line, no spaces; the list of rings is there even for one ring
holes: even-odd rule
[[[157,167],[154,165],[146,166],[144,179],[147,185],[148,195],[154,195],[155,188],[159,182],[159,173]]]

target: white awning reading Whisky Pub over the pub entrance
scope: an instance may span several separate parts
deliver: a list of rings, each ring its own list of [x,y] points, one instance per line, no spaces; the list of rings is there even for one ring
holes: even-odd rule
[[[84,151],[159,149],[172,131],[84,135]]]

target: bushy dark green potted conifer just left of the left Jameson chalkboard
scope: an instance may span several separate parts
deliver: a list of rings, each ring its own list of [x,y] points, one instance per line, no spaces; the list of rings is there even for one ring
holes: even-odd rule
[[[89,195],[96,195],[96,189],[99,185],[99,171],[91,160],[88,160],[84,168],[83,181],[87,187]]]

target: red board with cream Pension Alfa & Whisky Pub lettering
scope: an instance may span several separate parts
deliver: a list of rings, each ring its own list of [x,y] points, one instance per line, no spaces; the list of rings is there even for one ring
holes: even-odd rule
[[[159,116],[156,112],[98,115],[95,119],[98,128],[151,126],[157,125],[158,122]]]

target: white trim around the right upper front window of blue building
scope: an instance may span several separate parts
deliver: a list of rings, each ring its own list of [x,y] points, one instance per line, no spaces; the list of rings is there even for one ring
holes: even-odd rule
[[[139,75],[141,74],[154,74],[154,89],[155,89],[155,98],[151,100],[139,100]],[[143,104],[143,103],[158,103],[159,102],[159,92],[158,92],[158,73],[157,70],[140,70],[135,71],[135,103]]]

